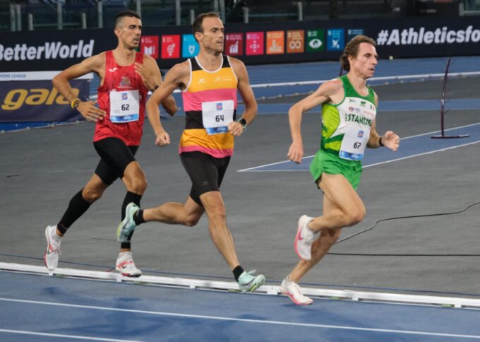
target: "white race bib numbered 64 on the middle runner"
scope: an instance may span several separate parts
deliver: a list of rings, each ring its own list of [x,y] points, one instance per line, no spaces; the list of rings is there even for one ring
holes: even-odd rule
[[[228,124],[234,121],[234,100],[202,102],[202,120],[207,134],[228,131]]]

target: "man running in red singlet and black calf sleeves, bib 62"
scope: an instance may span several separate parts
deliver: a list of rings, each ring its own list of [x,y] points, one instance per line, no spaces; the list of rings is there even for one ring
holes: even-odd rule
[[[145,174],[134,155],[142,137],[148,90],[157,89],[162,78],[155,59],[136,52],[142,33],[137,13],[120,12],[116,16],[114,33],[119,40],[114,50],[89,57],[53,79],[55,88],[71,102],[71,107],[85,119],[96,122],[93,146],[101,159],[88,183],[71,199],[59,223],[45,230],[47,252],[44,261],[49,271],[58,265],[61,238],[66,230],[102,197],[110,184],[121,178],[126,186],[122,220],[126,205],[130,202],[139,205],[147,187]],[[100,78],[96,102],[77,98],[69,83],[90,72],[97,73]],[[98,107],[95,106],[97,102]],[[176,112],[172,96],[164,100],[162,106],[171,115]],[[159,134],[157,138],[162,141],[164,137]],[[116,270],[124,276],[140,276],[142,272],[133,262],[130,239],[131,235],[121,243]]]

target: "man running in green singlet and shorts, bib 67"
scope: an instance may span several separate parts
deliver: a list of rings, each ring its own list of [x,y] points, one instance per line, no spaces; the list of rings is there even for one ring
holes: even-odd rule
[[[356,225],[365,216],[365,206],[356,188],[360,182],[365,149],[385,146],[397,151],[400,138],[392,131],[383,136],[375,128],[376,93],[366,86],[378,64],[376,42],[357,35],[345,47],[340,62],[347,75],[323,83],[315,93],[289,110],[292,145],[288,157],[301,163],[304,147],[301,117],[322,105],[322,141],[310,171],[323,191],[323,215],[301,216],[295,237],[295,251],[301,261],[284,278],[280,290],[297,305],[311,304],[301,293],[300,279],[327,254],[344,227]]]

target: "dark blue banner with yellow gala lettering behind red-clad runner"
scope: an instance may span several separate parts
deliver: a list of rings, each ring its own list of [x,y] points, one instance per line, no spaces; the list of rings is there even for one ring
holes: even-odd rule
[[[89,82],[71,81],[78,98],[89,97]],[[82,119],[52,81],[0,82],[0,122],[73,122]]]

